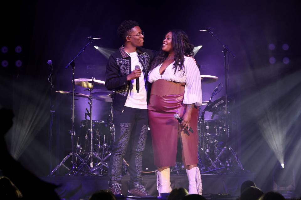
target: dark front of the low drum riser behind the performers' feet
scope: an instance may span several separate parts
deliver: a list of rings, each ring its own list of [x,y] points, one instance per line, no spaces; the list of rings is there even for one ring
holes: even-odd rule
[[[241,174],[204,174],[201,175],[203,195],[229,194],[231,197],[240,195],[240,185],[246,180],[254,181],[254,173]],[[56,192],[64,199],[85,199],[100,189],[108,189],[108,176],[66,176],[66,177],[41,177],[42,180],[59,185]],[[122,193],[127,194],[129,176],[122,177]],[[187,175],[171,175],[171,187],[184,187],[188,189]],[[143,185],[150,195],[158,196],[156,175],[143,176]],[[206,196],[207,198],[207,196]],[[227,198],[227,197],[226,197]],[[210,198],[210,199],[221,199]],[[227,198],[229,199],[229,197]],[[233,198],[235,199],[235,198]]]

